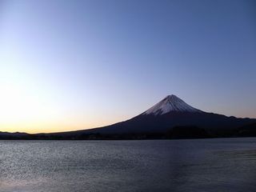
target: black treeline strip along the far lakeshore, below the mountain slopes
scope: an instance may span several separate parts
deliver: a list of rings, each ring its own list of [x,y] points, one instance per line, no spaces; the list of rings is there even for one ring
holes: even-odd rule
[[[207,131],[198,126],[174,126],[165,132],[141,132],[130,134],[102,134],[67,132],[57,134],[26,134],[0,132],[0,139],[5,140],[122,140],[122,139],[182,139],[182,138],[231,138],[256,137],[256,123],[242,126],[237,130]]]

